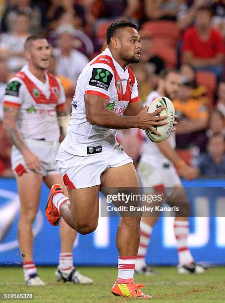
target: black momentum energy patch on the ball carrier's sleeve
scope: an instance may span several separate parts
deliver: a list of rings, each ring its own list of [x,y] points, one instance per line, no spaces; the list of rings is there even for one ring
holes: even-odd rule
[[[89,85],[108,91],[112,81],[112,73],[105,68],[93,68]]]

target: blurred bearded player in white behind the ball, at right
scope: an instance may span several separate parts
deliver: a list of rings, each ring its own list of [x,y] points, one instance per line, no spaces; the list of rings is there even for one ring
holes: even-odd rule
[[[167,69],[162,72],[159,79],[157,91],[153,91],[147,97],[149,105],[153,100],[160,96],[168,97],[173,100],[177,96],[181,85],[181,75],[176,69]],[[150,188],[156,193],[167,191],[167,202],[169,205],[188,205],[187,197],[183,191],[180,176],[191,180],[197,177],[198,169],[187,165],[175,152],[175,134],[172,133],[167,141],[153,143],[144,135],[143,152],[137,167],[143,188],[148,191]],[[172,203],[172,204],[171,204]],[[181,207],[180,207],[181,208]],[[187,207],[188,208],[188,207]],[[146,265],[145,257],[149,246],[152,229],[158,220],[159,212],[156,216],[143,216],[141,221],[141,238],[135,267],[136,273],[151,274],[151,268]],[[191,255],[187,238],[189,233],[188,220],[185,216],[176,214],[174,221],[174,233],[177,240],[178,249],[178,272],[201,273],[204,268],[194,263]],[[154,273],[154,272],[153,272]]]

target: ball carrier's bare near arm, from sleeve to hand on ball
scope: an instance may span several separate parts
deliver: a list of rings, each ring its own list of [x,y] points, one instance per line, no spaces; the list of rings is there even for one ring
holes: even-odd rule
[[[104,97],[85,95],[86,118],[89,123],[114,129],[151,129],[157,135],[160,133],[153,126],[167,124],[162,121],[167,116],[157,117],[157,114],[165,108],[164,106],[153,113],[147,113],[147,106],[145,106],[135,116],[124,116],[108,109],[108,102],[109,100]]]

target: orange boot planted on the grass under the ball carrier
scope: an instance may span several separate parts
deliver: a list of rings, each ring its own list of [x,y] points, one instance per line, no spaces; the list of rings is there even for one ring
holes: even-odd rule
[[[119,284],[115,280],[114,285],[112,286],[112,296],[116,297],[125,297],[125,298],[137,298],[137,299],[151,299],[149,295],[145,295],[139,290],[139,287],[146,287],[143,284],[125,283]]]

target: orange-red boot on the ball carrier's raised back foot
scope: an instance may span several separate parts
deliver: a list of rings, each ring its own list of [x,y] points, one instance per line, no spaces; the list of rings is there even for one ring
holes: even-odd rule
[[[63,194],[63,189],[60,184],[54,184],[51,188],[49,199],[45,207],[45,214],[47,216],[47,219],[49,220],[49,223],[53,226],[57,226],[61,220],[61,216],[53,203],[53,197],[55,194],[58,193]]]

